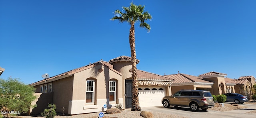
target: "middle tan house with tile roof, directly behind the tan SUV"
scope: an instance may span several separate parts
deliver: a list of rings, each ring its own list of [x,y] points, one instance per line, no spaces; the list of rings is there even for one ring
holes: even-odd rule
[[[196,77],[192,75],[186,75],[182,73],[173,75],[164,75],[164,77],[169,77],[174,79],[172,83],[172,93],[175,93],[182,89],[190,90],[208,90],[213,92],[212,85],[213,82],[205,81],[202,77]]]

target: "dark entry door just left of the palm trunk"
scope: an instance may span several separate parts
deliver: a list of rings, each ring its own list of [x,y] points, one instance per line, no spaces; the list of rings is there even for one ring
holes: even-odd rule
[[[125,80],[125,108],[132,108],[132,80]]]

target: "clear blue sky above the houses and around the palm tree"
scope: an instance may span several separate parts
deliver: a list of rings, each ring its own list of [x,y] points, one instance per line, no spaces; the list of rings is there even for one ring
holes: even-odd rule
[[[1,78],[30,84],[103,59],[130,56],[131,0],[0,0]],[[152,15],[135,26],[137,68],[158,75],[256,77],[255,0],[133,0]]]

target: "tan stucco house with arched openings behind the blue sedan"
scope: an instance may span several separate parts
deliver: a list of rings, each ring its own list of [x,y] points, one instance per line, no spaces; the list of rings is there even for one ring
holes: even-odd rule
[[[236,85],[236,83],[228,81],[227,79],[225,79],[225,76],[227,76],[227,74],[213,71],[199,75],[199,77],[202,77],[203,80],[214,83],[212,85],[213,91],[211,92],[214,95],[224,94],[228,92],[234,93],[234,85]]]

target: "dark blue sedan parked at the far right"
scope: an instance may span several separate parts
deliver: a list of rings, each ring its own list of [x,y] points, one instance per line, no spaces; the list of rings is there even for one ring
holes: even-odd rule
[[[224,93],[227,96],[226,102],[235,102],[236,104],[243,104],[248,102],[247,96],[238,93]]]

